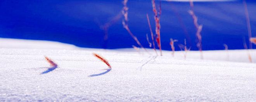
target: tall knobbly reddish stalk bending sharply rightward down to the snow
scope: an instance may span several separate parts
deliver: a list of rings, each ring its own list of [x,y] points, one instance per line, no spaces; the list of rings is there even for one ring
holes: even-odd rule
[[[128,26],[128,7],[127,7],[127,2],[128,0],[124,0],[123,1],[123,10],[122,10],[122,14],[124,16],[124,20],[122,22],[123,27],[126,29],[126,31],[128,31],[128,33],[131,35],[131,37],[137,42],[137,44],[140,46],[140,48],[143,48],[146,52],[147,49],[145,49],[142,44],[140,44],[140,41],[138,41],[137,37],[133,35],[133,33],[130,31],[129,26]]]

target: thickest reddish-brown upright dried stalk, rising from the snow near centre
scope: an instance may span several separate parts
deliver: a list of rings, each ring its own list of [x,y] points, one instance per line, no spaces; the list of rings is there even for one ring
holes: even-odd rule
[[[161,2],[161,0],[160,0]],[[160,3],[161,4],[161,3]],[[159,12],[157,12],[156,10],[156,2],[155,0],[152,0],[152,8],[153,8],[153,12],[154,12],[154,19],[155,19],[155,23],[156,23],[156,42],[157,42],[157,46],[160,50],[160,55],[162,56],[162,48],[161,48],[161,39],[160,39],[160,15],[161,15],[161,7],[159,7]]]

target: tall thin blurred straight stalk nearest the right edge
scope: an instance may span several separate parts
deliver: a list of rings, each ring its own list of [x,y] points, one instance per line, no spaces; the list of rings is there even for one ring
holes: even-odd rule
[[[244,11],[245,11],[245,15],[246,15],[246,24],[247,24],[247,32],[248,32],[248,37],[249,40],[252,37],[252,31],[251,31],[251,24],[250,24],[250,18],[249,18],[249,13],[248,13],[248,9],[247,9],[247,4],[246,4],[246,0],[243,0],[243,5],[244,5]],[[249,41],[249,48],[252,49],[253,48],[253,44],[252,42]]]

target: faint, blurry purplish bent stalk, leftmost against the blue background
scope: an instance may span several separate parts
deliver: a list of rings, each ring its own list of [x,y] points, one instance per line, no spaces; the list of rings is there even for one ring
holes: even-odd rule
[[[113,17],[109,22],[105,23],[104,25],[100,26],[100,29],[104,30],[104,44],[103,48],[107,48],[107,39],[108,39],[108,30],[113,24],[115,24],[120,18],[122,17],[122,13],[118,13],[115,17]]]

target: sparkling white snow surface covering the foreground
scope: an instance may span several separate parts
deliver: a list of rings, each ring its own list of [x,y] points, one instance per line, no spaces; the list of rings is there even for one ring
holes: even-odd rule
[[[242,101],[256,100],[256,64],[245,50],[89,49],[50,41],[0,39],[0,101]],[[104,56],[112,66],[95,58]],[[251,50],[256,61],[256,50]],[[50,68],[44,56],[59,66]]]

